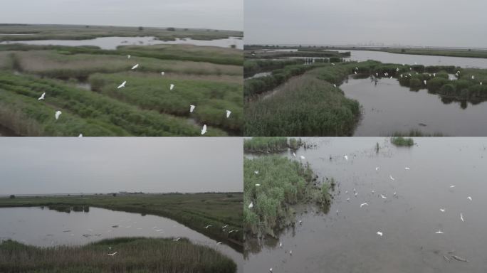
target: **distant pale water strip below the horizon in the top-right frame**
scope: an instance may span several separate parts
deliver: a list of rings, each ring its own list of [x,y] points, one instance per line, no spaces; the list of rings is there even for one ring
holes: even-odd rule
[[[381,63],[404,63],[408,65],[418,63],[419,65],[456,65],[462,68],[487,68],[486,58],[410,55],[368,50],[345,51],[350,51],[351,53],[350,58],[345,58],[345,60],[378,60]]]

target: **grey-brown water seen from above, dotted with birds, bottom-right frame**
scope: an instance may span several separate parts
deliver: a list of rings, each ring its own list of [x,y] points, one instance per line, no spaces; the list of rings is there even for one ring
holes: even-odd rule
[[[271,267],[273,272],[302,273],[487,272],[487,139],[416,138],[417,146],[411,148],[392,146],[384,138],[311,141],[318,149],[296,154],[305,156],[319,179],[337,181],[330,213],[298,213],[303,225],[281,234],[283,248],[267,240],[260,251],[248,253],[246,272],[268,272]],[[369,205],[360,208],[361,203]],[[444,234],[436,234],[439,229]],[[376,234],[379,230],[383,237]],[[443,255],[470,262],[447,262]]]

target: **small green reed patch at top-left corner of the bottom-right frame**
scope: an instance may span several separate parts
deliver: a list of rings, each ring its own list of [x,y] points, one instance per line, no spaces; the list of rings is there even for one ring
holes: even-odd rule
[[[244,152],[248,153],[276,153],[287,149],[296,150],[303,146],[301,139],[287,137],[253,137],[244,139]]]

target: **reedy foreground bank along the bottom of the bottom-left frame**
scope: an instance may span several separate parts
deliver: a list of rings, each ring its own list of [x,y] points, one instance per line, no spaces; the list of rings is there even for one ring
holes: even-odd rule
[[[109,249],[111,247],[111,250]],[[110,256],[108,253],[117,252]],[[120,237],[84,246],[33,247],[0,242],[0,272],[236,272],[210,247],[182,238]]]

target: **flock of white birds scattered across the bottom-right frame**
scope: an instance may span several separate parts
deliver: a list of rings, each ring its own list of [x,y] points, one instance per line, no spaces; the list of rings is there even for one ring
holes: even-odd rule
[[[298,156],[296,156],[295,152],[293,152],[293,157],[295,157],[295,158],[297,158],[297,157],[298,157]],[[347,156],[347,155],[343,156],[343,158],[345,159],[345,161],[348,161],[348,156]],[[305,160],[305,156],[302,156],[302,155],[301,155],[301,156],[299,156],[299,159],[300,159],[300,160]],[[378,172],[378,171],[379,171],[379,169],[380,169],[380,168],[379,168],[379,166],[376,166],[376,167],[375,167],[375,171],[376,171],[376,172]],[[409,168],[408,166],[405,166],[405,167],[404,167],[404,170],[405,170],[405,171],[410,171],[410,170],[411,170],[411,168]],[[258,171],[258,170],[256,170],[256,171],[254,171],[254,173],[255,173],[256,175],[258,175],[259,171]],[[389,179],[390,179],[391,181],[395,181],[395,180],[396,180],[396,178],[394,178],[394,177],[393,177],[392,175],[390,175],[390,174],[389,174]],[[256,186],[261,186],[261,184],[258,184],[258,183],[256,183],[255,185],[256,185]],[[456,187],[456,185],[451,185],[451,186],[449,186],[449,188],[455,188],[455,187]],[[374,191],[374,190],[372,190],[372,191],[371,191],[371,193],[372,193],[372,195],[374,195],[374,194],[375,194],[375,191]],[[348,191],[345,191],[345,194],[347,194],[347,195],[348,195]],[[354,195],[355,197],[357,197],[357,196],[358,196],[358,192],[357,192],[357,190],[356,190],[355,188],[353,188],[353,195]],[[385,196],[385,195],[384,195],[384,194],[382,194],[382,193],[379,193],[377,196],[378,196],[379,198],[382,198],[382,199],[387,199],[387,196]],[[397,197],[398,197],[398,196],[397,196],[397,192],[392,193],[392,196],[394,196],[395,198],[397,198]],[[472,197],[471,197],[471,196],[467,196],[467,200],[472,201],[473,199],[472,199]],[[350,202],[350,197],[348,197],[348,198],[347,198],[347,202]],[[361,203],[361,204],[360,204],[360,208],[363,208],[363,207],[368,206],[368,205],[369,205],[368,203]],[[249,209],[252,209],[252,208],[253,208],[253,203],[252,203],[252,202],[251,202],[251,203],[248,205],[248,208],[249,208]],[[445,209],[445,208],[440,208],[439,210],[440,210],[440,212],[441,212],[441,213],[446,212],[446,209]],[[339,211],[337,210],[337,211],[336,211],[336,213],[337,213],[337,215],[338,215]],[[465,219],[464,219],[464,215],[463,215],[463,213],[460,213],[460,215],[459,215],[459,216],[460,216],[460,220],[461,220],[461,222],[465,222]],[[302,225],[302,224],[303,224],[303,221],[302,221],[302,220],[299,220],[299,221],[298,221],[298,224],[299,224],[299,225]],[[434,233],[435,233],[435,234],[440,234],[440,235],[441,235],[441,234],[444,234],[444,232],[443,232],[442,230],[437,230],[437,231],[436,231],[436,232],[434,232]],[[384,236],[384,232],[383,232],[382,230],[378,230],[378,231],[376,232],[376,234],[377,234],[377,236],[379,236],[379,237]],[[279,248],[283,248],[283,242],[279,242]],[[293,255],[293,250],[289,250],[289,255],[290,255],[290,256],[292,256],[292,255]],[[448,261],[448,262],[449,262],[451,259],[455,259],[455,260],[457,260],[457,261],[459,261],[459,262],[469,262],[469,261],[468,261],[468,259],[463,258],[463,257],[456,256],[456,255],[451,255],[451,257],[447,257],[446,255],[444,255],[443,257],[444,257],[444,259],[446,259],[446,261]],[[269,272],[273,272],[272,267],[269,269]]]

